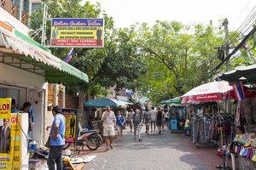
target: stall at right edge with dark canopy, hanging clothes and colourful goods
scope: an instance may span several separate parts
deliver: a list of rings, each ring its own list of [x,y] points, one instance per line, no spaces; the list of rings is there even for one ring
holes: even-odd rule
[[[222,80],[229,81],[236,88],[236,126],[245,127],[241,140],[231,144],[230,152],[236,155],[233,166],[238,169],[256,168],[256,65],[241,66],[224,73]],[[250,92],[249,94],[247,92]],[[234,168],[234,167],[233,167]]]

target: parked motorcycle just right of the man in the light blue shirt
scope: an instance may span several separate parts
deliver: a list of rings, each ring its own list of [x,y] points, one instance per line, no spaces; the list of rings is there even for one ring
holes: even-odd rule
[[[82,147],[84,150],[84,145],[87,146],[89,150],[96,150],[100,146],[102,137],[98,130],[82,131],[75,142],[75,148],[79,149]],[[67,142],[63,146],[63,150],[66,150],[71,143]]]

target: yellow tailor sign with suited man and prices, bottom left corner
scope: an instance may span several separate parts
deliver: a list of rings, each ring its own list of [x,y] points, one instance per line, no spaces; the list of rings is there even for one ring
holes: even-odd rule
[[[0,99],[0,105],[0,169],[21,169],[20,116],[11,115],[10,98]]]

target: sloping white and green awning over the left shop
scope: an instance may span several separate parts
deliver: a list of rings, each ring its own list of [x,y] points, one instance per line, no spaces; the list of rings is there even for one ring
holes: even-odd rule
[[[45,77],[46,82],[88,82],[84,72],[32,43],[31,38],[19,35],[0,28],[0,62]]]

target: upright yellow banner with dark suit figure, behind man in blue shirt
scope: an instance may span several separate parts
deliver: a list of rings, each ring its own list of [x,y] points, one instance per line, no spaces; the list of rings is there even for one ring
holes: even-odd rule
[[[74,143],[78,111],[73,109],[62,109],[62,113],[66,118],[65,142]]]

